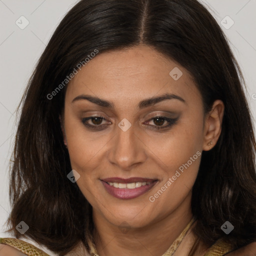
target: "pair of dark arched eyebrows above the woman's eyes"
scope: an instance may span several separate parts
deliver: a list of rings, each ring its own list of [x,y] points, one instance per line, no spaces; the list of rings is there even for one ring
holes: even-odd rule
[[[91,95],[84,95],[84,94],[79,95],[79,96],[75,97],[72,100],[72,103],[75,102],[75,101],[84,100],[84,99],[85,100],[89,100],[90,102],[92,102],[94,104],[97,104],[99,106],[114,109],[114,104],[112,102],[104,100],[104,99],[101,99],[101,98],[96,97],[96,96],[91,96]],[[178,95],[164,93],[164,94],[159,95],[159,96],[150,97],[150,98],[146,98],[146,99],[141,100],[138,103],[137,107],[139,109],[142,109],[142,108],[154,105],[154,104],[156,104],[156,103],[158,103],[160,101],[166,100],[166,99],[178,99],[181,102],[186,103],[186,101],[183,98],[181,98],[180,96],[178,96]]]

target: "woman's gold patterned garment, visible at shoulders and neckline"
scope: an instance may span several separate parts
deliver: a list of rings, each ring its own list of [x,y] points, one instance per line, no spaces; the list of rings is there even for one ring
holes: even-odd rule
[[[162,256],[171,256],[176,248],[178,247],[179,243],[183,239],[184,235],[188,231],[189,227],[193,224],[194,219],[191,219],[191,221],[187,224],[187,226],[183,229],[183,231],[180,233],[180,235],[173,241],[171,246],[167,249],[167,251]],[[17,250],[23,252],[25,255],[28,256],[52,256],[57,255],[52,252],[52,254],[47,254],[43,250],[37,248],[35,245],[21,240],[17,238],[0,238],[0,244],[7,244],[10,245]],[[224,242],[221,238],[218,239],[204,254],[204,256],[223,256],[224,254],[231,252],[233,250],[232,246],[226,242]],[[67,254],[66,256],[71,256],[72,254]],[[98,253],[96,251],[96,248],[91,247],[90,253],[86,255],[85,253],[79,254],[81,256],[98,256]]]

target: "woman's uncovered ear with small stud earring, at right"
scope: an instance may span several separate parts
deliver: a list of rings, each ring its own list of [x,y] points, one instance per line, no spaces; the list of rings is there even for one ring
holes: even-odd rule
[[[217,99],[213,102],[211,110],[204,120],[204,141],[202,149],[210,150],[216,143],[221,133],[221,125],[224,116],[224,103]]]

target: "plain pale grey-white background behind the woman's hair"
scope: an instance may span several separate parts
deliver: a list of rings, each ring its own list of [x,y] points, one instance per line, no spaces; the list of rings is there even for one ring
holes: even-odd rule
[[[10,212],[8,163],[16,129],[15,110],[37,59],[57,24],[75,2],[76,0],[0,0],[0,237],[4,237],[4,223]],[[234,21],[229,29],[221,27],[245,77],[247,98],[254,117],[256,0],[201,2],[220,25],[227,15]],[[29,21],[24,29],[20,29],[15,23],[22,15]],[[225,20],[229,25],[229,19],[224,19],[224,22]]]

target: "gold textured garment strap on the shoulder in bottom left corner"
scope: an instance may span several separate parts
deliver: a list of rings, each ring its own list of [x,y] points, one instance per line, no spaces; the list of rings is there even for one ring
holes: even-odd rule
[[[28,256],[50,256],[33,244],[17,238],[0,238],[0,244],[7,244]]]

